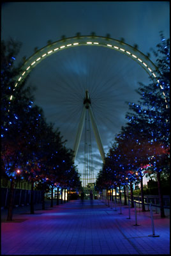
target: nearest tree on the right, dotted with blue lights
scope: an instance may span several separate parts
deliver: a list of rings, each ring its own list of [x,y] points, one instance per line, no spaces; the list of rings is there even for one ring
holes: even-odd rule
[[[169,170],[169,89],[170,89],[170,40],[166,40],[161,33],[161,43],[157,45],[156,66],[158,71],[158,82],[151,81],[151,84],[140,83],[137,92],[140,95],[138,104],[129,103],[131,113],[127,118],[132,124],[144,124],[144,137],[147,140],[149,152],[147,160],[152,170],[156,172],[158,179],[158,193],[161,206],[161,217],[165,217],[163,209],[163,197],[161,191],[161,172]],[[142,125],[143,126],[143,125]]]

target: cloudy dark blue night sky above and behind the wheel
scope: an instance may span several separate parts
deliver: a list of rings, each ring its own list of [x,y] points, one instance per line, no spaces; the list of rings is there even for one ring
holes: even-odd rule
[[[62,35],[106,36],[130,45],[137,44],[144,54],[160,42],[160,31],[170,36],[168,1],[141,2],[40,2],[3,3],[1,38],[22,42],[17,56],[29,58],[34,47]],[[155,61],[151,53],[151,60]],[[148,74],[121,52],[103,47],[78,46],[53,54],[31,72],[28,85],[36,86],[34,103],[43,108],[47,122],[59,127],[66,147],[73,148],[82,111],[85,90],[89,90],[101,141],[107,154],[115,134],[125,124],[128,106],[136,102],[138,82],[149,83]],[[101,157],[92,134],[94,172],[101,168]],[[84,131],[75,164],[83,171]],[[95,175],[96,176],[96,175]]]

